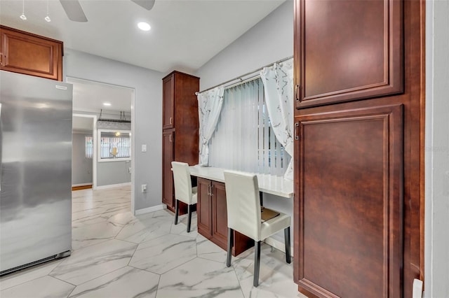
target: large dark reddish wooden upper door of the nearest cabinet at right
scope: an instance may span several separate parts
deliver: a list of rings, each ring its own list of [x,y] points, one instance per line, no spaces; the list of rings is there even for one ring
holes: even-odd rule
[[[403,1],[295,1],[296,107],[403,92]]]

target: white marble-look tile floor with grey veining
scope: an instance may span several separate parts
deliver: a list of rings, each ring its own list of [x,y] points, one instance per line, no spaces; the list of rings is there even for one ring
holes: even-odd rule
[[[0,278],[0,297],[305,297],[293,265],[262,244],[260,285],[254,249],[232,258],[166,210],[134,216],[130,187],[72,194],[72,255]]]

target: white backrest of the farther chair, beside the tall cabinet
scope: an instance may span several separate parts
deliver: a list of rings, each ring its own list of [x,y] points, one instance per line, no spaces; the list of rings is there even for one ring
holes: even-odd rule
[[[190,179],[189,164],[171,162],[171,167],[175,182],[175,198],[192,205],[192,180]]]

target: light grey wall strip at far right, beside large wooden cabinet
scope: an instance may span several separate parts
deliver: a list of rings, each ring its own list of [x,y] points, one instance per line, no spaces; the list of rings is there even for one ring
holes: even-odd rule
[[[449,1],[426,2],[424,297],[449,297]]]

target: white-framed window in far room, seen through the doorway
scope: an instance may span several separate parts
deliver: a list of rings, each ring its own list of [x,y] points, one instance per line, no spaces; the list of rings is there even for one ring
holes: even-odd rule
[[[131,137],[129,131],[99,129],[100,162],[130,159]]]

